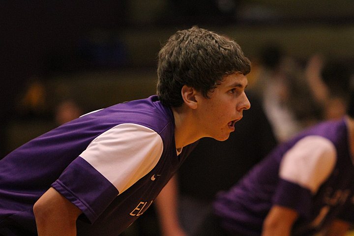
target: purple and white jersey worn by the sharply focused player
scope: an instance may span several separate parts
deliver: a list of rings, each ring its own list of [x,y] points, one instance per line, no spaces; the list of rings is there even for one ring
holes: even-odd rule
[[[119,235],[192,148],[177,155],[174,128],[171,109],[154,95],[89,113],[17,148],[0,160],[0,234],[36,235],[32,207],[52,186],[83,211],[78,236]]]

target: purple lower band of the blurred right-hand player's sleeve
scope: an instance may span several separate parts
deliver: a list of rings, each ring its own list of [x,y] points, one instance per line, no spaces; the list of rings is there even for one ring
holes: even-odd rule
[[[307,188],[284,179],[279,184],[273,197],[273,204],[295,209],[305,218],[310,217],[312,194]]]

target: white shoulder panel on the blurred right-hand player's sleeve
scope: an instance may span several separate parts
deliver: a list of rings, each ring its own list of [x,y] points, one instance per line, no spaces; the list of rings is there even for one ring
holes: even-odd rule
[[[333,171],[335,162],[332,142],[321,136],[307,136],[285,153],[279,175],[314,194]]]

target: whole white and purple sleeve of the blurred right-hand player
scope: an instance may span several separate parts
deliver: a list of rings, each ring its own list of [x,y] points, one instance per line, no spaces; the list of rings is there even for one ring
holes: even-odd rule
[[[312,197],[333,172],[335,163],[336,149],[328,139],[302,138],[281,160],[272,203],[295,209],[304,217],[310,216]]]

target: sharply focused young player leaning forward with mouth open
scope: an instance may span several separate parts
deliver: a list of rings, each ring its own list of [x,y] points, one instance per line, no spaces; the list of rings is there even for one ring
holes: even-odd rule
[[[119,235],[193,143],[234,131],[249,71],[236,42],[177,31],[159,52],[157,95],[74,119],[0,161],[0,235]]]

